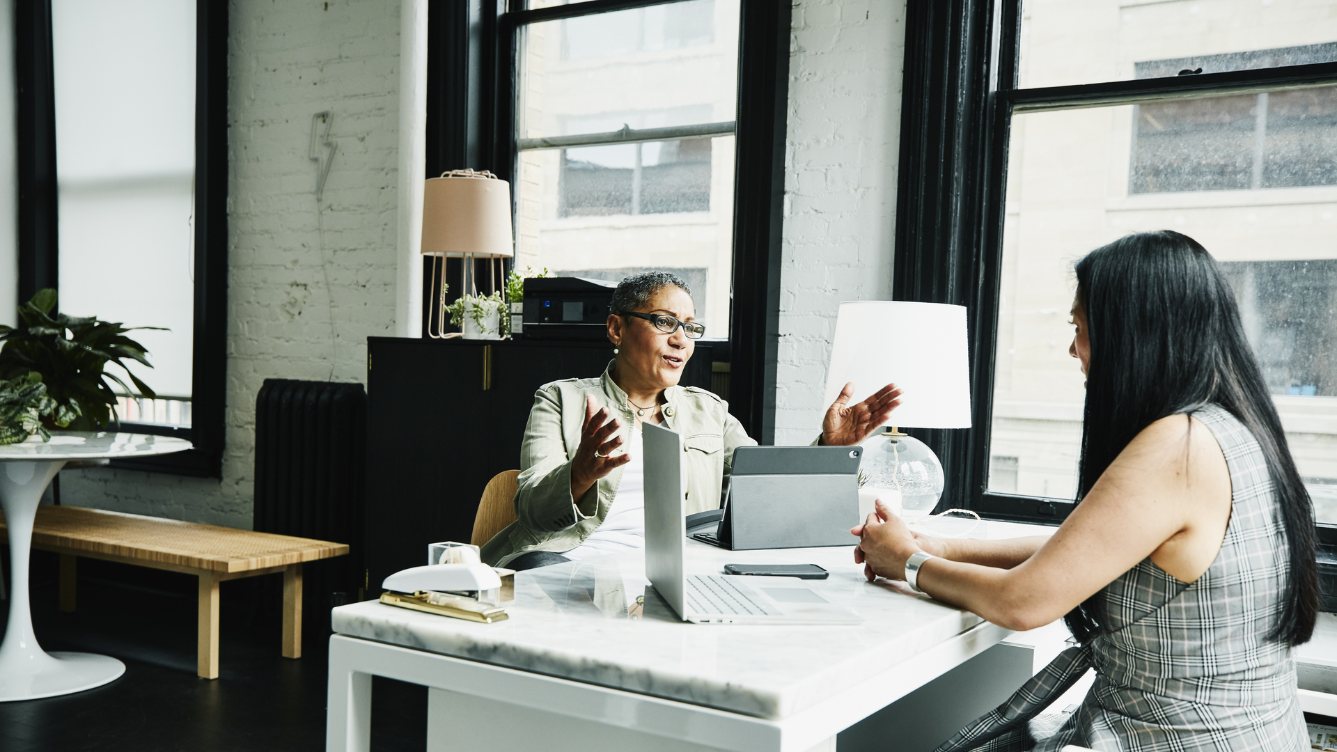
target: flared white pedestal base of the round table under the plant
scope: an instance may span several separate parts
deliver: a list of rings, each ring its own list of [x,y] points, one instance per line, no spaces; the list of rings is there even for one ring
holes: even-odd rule
[[[92,653],[47,653],[32,633],[28,558],[32,521],[47,484],[66,460],[0,463],[0,506],[9,527],[9,624],[0,644],[0,702],[36,700],[102,686],[126,664]]]

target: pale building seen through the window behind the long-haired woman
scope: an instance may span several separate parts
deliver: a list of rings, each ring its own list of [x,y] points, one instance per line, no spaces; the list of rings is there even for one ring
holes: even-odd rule
[[[1027,3],[1021,80],[1193,80],[1337,59],[1333,43],[1223,52],[1238,41],[1191,13],[1169,23],[1187,4],[1102,4],[1118,13],[1090,13],[1090,0]],[[1271,25],[1259,39],[1337,37],[1337,19],[1298,7],[1262,15]],[[1111,17],[1118,44],[1102,50],[1126,58],[1071,55],[1071,40]],[[1210,54],[1185,54],[1194,50]],[[1132,58],[1147,52],[1161,55]],[[987,490],[1075,496],[1086,392],[1068,355],[1072,262],[1128,233],[1177,230],[1222,262],[1318,521],[1337,523],[1337,86],[1128,88],[1126,103],[1011,119]]]

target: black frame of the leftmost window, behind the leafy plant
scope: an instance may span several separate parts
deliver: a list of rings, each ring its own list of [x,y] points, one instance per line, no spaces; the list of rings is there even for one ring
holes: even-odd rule
[[[120,421],[193,448],[111,467],[222,478],[227,388],[227,4],[195,1],[195,290],[191,426]],[[51,0],[16,0],[19,300],[59,285]],[[150,353],[151,355],[151,353]]]

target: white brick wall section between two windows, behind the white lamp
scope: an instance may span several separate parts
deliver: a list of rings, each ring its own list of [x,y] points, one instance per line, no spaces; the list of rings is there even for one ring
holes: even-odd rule
[[[889,300],[904,0],[796,0],[775,443],[821,426],[844,300]]]

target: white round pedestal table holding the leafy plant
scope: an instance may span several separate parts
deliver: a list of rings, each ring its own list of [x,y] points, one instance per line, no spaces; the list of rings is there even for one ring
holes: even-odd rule
[[[0,702],[36,700],[102,686],[126,664],[94,653],[47,653],[37,646],[28,607],[32,521],[51,479],[70,460],[128,459],[189,450],[190,442],[143,434],[53,431],[51,442],[0,446],[0,507],[9,527],[9,625],[0,644]]]

